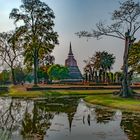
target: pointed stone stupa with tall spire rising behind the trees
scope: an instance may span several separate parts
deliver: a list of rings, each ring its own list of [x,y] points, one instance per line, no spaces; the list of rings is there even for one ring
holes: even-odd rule
[[[68,58],[65,60],[65,66],[69,69],[69,79],[71,81],[82,81],[82,74],[78,68],[77,61],[74,58],[71,43]]]

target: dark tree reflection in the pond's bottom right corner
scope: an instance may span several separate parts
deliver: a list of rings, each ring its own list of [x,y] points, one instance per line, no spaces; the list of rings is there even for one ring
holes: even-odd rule
[[[123,112],[121,127],[130,140],[140,140],[140,114]]]

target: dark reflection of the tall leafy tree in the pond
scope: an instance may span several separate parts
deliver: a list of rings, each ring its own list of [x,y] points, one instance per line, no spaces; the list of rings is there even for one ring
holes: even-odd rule
[[[34,101],[31,113],[26,108],[21,130],[24,138],[34,139],[38,137],[38,139],[43,139],[46,131],[51,126],[50,120],[54,117],[53,113],[46,111],[46,107],[45,104],[39,104],[39,102]]]

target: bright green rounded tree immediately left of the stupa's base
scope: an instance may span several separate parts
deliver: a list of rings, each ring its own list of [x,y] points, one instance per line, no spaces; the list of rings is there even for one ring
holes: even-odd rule
[[[48,69],[48,75],[51,80],[67,79],[69,77],[69,70],[65,66],[56,64]]]

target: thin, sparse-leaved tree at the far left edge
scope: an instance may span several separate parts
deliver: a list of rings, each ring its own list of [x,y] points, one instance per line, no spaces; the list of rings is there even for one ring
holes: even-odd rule
[[[0,58],[2,65],[8,65],[12,73],[13,84],[16,84],[14,68],[22,61],[22,40],[16,31],[0,33]]]

